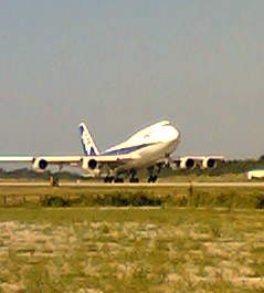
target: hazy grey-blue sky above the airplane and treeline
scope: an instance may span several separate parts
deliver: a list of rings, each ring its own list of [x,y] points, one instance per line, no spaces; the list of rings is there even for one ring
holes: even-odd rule
[[[261,0],[0,3],[0,153],[78,154],[170,119],[179,155],[264,154]]]

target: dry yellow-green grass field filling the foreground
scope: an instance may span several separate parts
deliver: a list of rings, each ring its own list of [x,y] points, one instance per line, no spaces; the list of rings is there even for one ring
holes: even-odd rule
[[[1,292],[263,292],[257,210],[0,209]]]

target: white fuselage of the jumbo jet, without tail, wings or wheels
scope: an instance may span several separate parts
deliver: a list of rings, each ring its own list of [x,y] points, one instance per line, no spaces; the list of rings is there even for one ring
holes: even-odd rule
[[[116,172],[148,168],[173,153],[179,142],[180,132],[168,121],[162,121],[139,130],[128,140],[105,150],[102,155],[133,154],[135,156],[135,159],[118,166]]]

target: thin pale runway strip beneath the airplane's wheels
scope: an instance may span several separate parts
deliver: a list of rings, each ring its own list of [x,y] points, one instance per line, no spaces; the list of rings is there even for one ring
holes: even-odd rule
[[[0,181],[0,187],[49,187],[50,182],[20,182],[20,181]],[[104,182],[60,182],[60,187],[91,187],[91,188],[177,188],[177,187],[235,187],[253,188],[263,187],[264,182],[156,182],[156,184],[104,184]]]

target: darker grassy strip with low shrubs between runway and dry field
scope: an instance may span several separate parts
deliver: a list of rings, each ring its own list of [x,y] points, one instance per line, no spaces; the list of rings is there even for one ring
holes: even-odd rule
[[[264,208],[262,187],[0,187],[2,207],[165,206]]]

